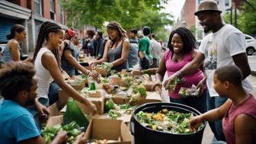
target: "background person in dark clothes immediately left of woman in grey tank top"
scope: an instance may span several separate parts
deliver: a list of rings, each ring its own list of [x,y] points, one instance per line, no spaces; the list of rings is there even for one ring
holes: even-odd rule
[[[96,36],[95,36],[95,42],[96,42],[96,59],[101,59],[103,54],[104,54],[104,38],[102,37],[102,32],[100,30],[97,31]]]

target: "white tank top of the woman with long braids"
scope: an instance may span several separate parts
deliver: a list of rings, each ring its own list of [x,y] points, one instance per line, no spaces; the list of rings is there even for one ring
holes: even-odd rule
[[[50,75],[50,72],[45,69],[42,65],[42,56],[43,53],[50,52],[50,50],[46,48],[41,48],[37,53],[37,58],[34,62],[34,66],[37,70],[36,78],[37,78],[37,99],[38,98],[48,98],[49,86],[50,83],[53,82],[53,78]]]

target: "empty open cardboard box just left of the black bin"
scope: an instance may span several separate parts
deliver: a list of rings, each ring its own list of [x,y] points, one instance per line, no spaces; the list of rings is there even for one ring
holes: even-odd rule
[[[85,132],[85,139],[117,140],[113,144],[130,144],[132,136],[122,120],[91,119]]]

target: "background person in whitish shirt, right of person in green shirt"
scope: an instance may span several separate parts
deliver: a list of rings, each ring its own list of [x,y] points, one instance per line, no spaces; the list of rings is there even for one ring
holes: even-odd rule
[[[162,46],[158,41],[155,40],[155,34],[150,34],[150,43],[151,43],[151,56],[153,60],[153,64],[151,68],[158,68],[159,60],[162,53]]]

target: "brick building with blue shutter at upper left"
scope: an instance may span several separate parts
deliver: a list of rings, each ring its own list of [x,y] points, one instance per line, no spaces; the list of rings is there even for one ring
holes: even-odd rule
[[[14,24],[22,24],[27,30],[27,39],[21,43],[23,53],[34,51],[40,25],[52,21],[66,28],[66,12],[59,0],[1,0],[0,43],[7,43],[6,35]]]

